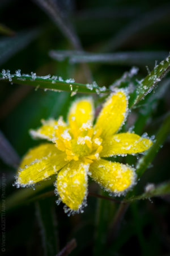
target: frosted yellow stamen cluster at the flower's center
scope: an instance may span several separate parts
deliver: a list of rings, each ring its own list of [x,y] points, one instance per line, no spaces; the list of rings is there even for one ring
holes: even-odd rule
[[[73,129],[74,128],[74,129]],[[67,127],[64,123],[56,126],[54,142],[59,150],[66,152],[66,160],[79,160],[92,163],[99,159],[102,150],[101,131],[94,130],[90,122],[81,127]]]

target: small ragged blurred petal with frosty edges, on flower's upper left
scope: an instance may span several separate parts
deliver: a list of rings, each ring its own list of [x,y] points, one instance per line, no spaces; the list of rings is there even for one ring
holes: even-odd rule
[[[52,141],[56,137],[56,127],[66,127],[66,123],[63,121],[62,117],[58,121],[54,119],[42,120],[42,126],[37,130],[31,130],[30,134],[33,138],[48,139]]]

